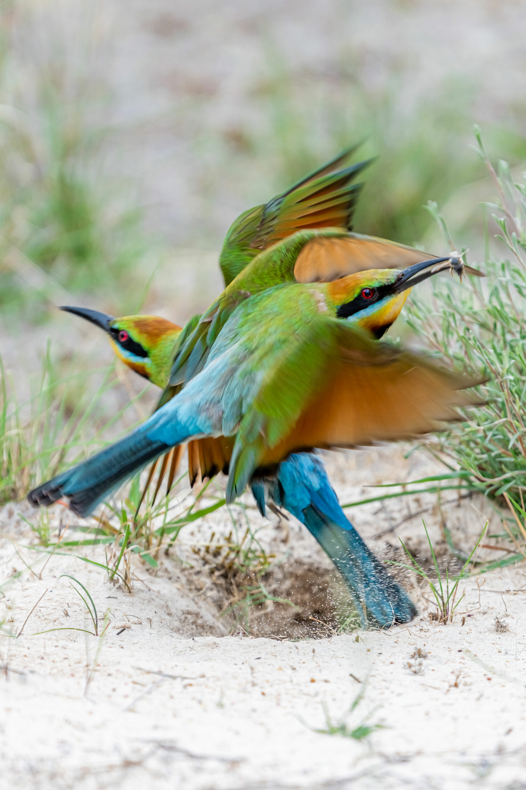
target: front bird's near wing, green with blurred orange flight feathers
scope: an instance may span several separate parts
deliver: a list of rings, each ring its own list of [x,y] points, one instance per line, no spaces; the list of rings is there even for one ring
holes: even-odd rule
[[[227,501],[244,490],[256,468],[294,451],[442,430],[459,419],[456,407],[480,403],[462,391],[479,383],[337,319],[315,318],[274,362],[241,421]]]

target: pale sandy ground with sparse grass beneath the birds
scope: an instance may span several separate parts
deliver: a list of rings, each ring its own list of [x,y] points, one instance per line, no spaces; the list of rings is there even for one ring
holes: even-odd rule
[[[399,448],[333,453],[326,465],[342,501],[370,495],[365,484],[376,476],[411,480],[431,469],[417,453],[404,461]],[[274,611],[263,612],[271,638],[251,638],[234,619],[218,617],[207,566],[191,553],[212,529],[227,529],[223,510],[185,528],[156,574],[136,561],[142,581],[131,595],[80,559],[54,555],[43,568],[47,557],[35,562],[28,549],[35,540],[19,517],[31,520],[31,510],[2,510],[2,633],[19,633],[47,591],[20,638],[0,641],[2,787],[524,787],[524,567],[463,582],[460,614],[447,626],[431,622],[428,590],[408,579],[420,610],[408,627],[338,634],[313,592],[300,615],[307,620],[310,605],[325,626],[291,638],[291,608],[271,604]],[[444,558],[441,520],[465,549],[491,517],[485,502],[437,508],[434,496],[421,495],[360,506],[353,519],[379,554],[392,555],[401,536],[421,547],[424,561],[422,511]],[[278,583],[285,597],[294,597],[285,584],[294,573],[298,589],[304,574],[315,590],[328,563],[311,536],[297,523],[285,529],[247,513],[262,543],[285,557]],[[103,559],[99,548],[84,554]],[[191,556],[192,568],[181,562]],[[14,568],[24,573],[13,577]],[[99,617],[109,609],[103,638],[74,630],[32,635],[91,627],[61,574],[84,583]],[[338,589],[333,579],[326,595]],[[258,617],[248,630],[260,627]],[[348,732],[364,722],[382,728],[360,741],[316,732],[327,728],[326,715]]]

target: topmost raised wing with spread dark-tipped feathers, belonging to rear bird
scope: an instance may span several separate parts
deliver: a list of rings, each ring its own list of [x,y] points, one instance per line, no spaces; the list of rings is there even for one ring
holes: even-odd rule
[[[320,167],[266,205],[248,209],[226,234],[219,265],[229,285],[261,250],[303,228],[351,230],[361,184],[353,179],[371,160],[341,167],[357,146]]]

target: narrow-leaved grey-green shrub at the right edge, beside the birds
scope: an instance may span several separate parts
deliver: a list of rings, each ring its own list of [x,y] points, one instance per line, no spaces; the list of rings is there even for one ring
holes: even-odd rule
[[[479,387],[486,401],[467,414],[467,422],[426,442],[451,468],[469,473],[469,483],[503,502],[507,494],[524,510],[526,487],[526,184],[514,182],[509,167],[498,171],[487,157],[479,130],[478,151],[498,193],[489,205],[498,225],[496,250],[486,238],[484,279],[464,278],[463,287],[435,281],[431,302],[415,294],[408,323],[442,358],[487,377]],[[430,204],[453,249],[446,224]]]

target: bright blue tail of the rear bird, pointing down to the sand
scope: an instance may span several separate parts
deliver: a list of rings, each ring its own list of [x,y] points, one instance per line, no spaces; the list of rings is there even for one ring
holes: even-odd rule
[[[256,486],[261,483],[256,481]],[[353,596],[363,626],[412,620],[416,615],[412,600],[345,517],[318,457],[295,453],[282,461],[276,479],[267,481],[267,496],[293,513],[329,555]]]

